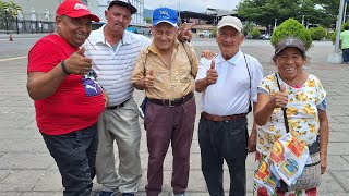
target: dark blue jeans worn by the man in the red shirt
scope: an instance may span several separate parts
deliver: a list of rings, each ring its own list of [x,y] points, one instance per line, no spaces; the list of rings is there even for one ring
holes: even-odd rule
[[[97,124],[64,135],[43,134],[62,176],[64,196],[89,196],[98,147]]]

